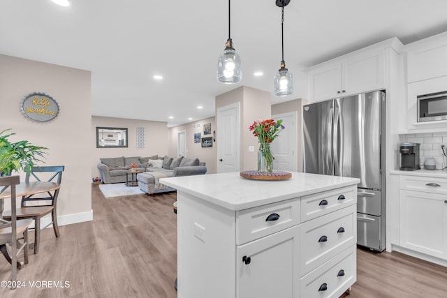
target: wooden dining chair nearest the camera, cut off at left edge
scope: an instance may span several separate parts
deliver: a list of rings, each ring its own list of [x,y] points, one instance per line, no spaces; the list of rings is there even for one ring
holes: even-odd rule
[[[10,189],[11,210],[15,210],[15,186],[20,184],[19,176],[0,177],[0,194]],[[3,209],[3,204],[1,204]],[[0,218],[0,251],[6,260],[11,263],[11,281],[17,281],[17,268],[22,268],[22,264],[17,262],[17,255],[23,250],[24,264],[28,264],[28,227],[32,219],[22,219],[17,221],[15,212],[12,212],[11,220],[5,221]],[[20,237],[20,238],[17,238]],[[22,244],[20,239],[23,239]],[[9,244],[10,252],[6,248]],[[12,285],[15,285],[14,283]]]

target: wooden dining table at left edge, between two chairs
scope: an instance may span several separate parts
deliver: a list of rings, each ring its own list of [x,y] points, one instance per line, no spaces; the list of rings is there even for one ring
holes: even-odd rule
[[[56,182],[50,182],[50,181],[31,181],[31,182],[21,182],[20,184],[17,184],[15,186],[15,199],[17,198],[27,198],[30,195],[36,195],[38,193],[49,193],[51,191],[56,191],[57,189],[61,188],[61,184]],[[0,192],[2,190],[0,189]],[[0,213],[3,213],[4,209],[4,202],[3,200],[11,198],[11,191],[10,188],[6,189],[6,191],[3,191],[0,193]],[[16,202],[15,200],[12,200],[11,198],[11,215],[15,214],[16,209]],[[13,211],[14,210],[14,211]],[[15,218],[15,216],[11,216],[11,219]],[[13,252],[10,252],[6,249],[2,249],[1,253],[3,256],[8,260],[8,262],[12,262],[11,254]],[[20,269],[22,267],[21,262],[17,262],[17,268]]]

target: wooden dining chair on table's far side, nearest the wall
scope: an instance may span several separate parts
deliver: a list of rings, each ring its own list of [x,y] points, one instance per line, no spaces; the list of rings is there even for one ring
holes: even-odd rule
[[[37,181],[43,179],[43,173],[49,173],[51,177],[46,181],[56,182],[61,184],[62,172],[64,172],[64,165],[56,166],[42,166],[33,167],[31,173],[27,174],[25,181],[29,182],[31,177]],[[57,225],[57,197],[59,196],[59,189],[55,190],[53,193],[45,193],[45,196],[39,195],[29,195],[27,197],[22,197],[22,207],[17,209],[17,218],[31,218],[34,219],[34,253],[38,253],[39,244],[41,242],[41,230],[47,228],[49,225],[53,225],[54,234],[59,237],[59,226]],[[45,202],[45,204],[29,204],[30,202]],[[41,228],[41,218],[47,214],[52,216],[51,223],[45,225]],[[3,212],[3,218],[10,218],[10,212]],[[31,229],[30,229],[31,230]]]

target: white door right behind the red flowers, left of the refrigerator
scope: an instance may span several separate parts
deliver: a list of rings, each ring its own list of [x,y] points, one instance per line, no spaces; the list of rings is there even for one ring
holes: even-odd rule
[[[279,133],[279,137],[272,142],[274,170],[298,172],[297,118],[297,112],[272,115],[272,119],[275,121],[282,119],[282,125],[285,127]]]

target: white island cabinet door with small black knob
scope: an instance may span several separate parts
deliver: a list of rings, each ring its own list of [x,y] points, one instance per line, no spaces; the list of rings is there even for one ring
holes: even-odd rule
[[[237,247],[237,297],[298,297],[300,226]]]

